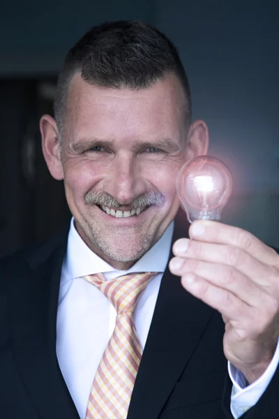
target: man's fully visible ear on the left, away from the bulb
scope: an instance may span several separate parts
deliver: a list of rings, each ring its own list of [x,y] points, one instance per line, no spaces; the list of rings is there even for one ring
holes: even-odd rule
[[[54,179],[63,179],[63,168],[61,165],[59,133],[56,121],[50,115],[43,115],[40,118],[40,133],[42,135],[42,148],[48,170]]]

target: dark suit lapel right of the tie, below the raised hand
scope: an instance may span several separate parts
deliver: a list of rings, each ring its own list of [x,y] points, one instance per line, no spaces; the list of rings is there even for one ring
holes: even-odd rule
[[[183,223],[186,224],[185,220]],[[179,236],[187,237],[186,231],[179,235],[178,230],[176,226],[173,241]],[[128,419],[158,418],[212,315],[213,309],[187,293],[180,278],[167,268],[137,373]]]

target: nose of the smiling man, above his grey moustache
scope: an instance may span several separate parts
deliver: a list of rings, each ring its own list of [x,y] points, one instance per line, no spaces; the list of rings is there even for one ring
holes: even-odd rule
[[[130,204],[144,193],[140,164],[130,155],[117,156],[110,166],[105,191],[110,193],[121,205]]]

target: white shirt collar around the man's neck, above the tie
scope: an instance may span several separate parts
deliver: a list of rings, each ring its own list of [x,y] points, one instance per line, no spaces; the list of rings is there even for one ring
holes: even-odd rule
[[[142,258],[137,260],[135,265],[127,271],[118,271],[89,249],[82,240],[82,237],[77,233],[74,219],[72,218],[64,261],[67,277],[68,279],[74,279],[84,277],[84,275],[107,272],[105,277],[106,279],[110,279],[112,276],[128,274],[130,272],[164,272],[169,259],[173,230],[174,222],[172,221],[163,236],[160,237],[160,240]]]

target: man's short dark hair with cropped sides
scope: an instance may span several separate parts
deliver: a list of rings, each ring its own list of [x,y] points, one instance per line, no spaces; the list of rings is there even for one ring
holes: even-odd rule
[[[68,86],[75,73],[96,86],[145,89],[169,74],[181,82],[186,126],[191,119],[190,87],[179,53],[167,36],[139,21],[105,22],[93,27],[66,55],[54,100],[59,133],[66,116]]]

